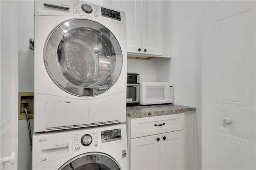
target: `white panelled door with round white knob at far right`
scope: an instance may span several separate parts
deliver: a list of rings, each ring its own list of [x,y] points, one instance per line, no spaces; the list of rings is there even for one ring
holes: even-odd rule
[[[255,169],[255,1],[202,13],[202,168]]]

